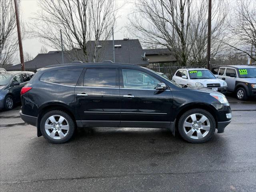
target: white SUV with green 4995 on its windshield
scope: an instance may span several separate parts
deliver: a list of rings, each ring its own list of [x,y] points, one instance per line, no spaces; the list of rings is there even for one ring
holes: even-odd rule
[[[216,78],[204,68],[182,68],[176,71],[172,80],[180,85],[205,87],[221,93],[227,92],[227,83]]]

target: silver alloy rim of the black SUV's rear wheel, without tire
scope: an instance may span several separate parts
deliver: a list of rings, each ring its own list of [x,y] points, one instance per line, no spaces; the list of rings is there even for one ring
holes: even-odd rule
[[[68,134],[68,121],[60,115],[50,116],[44,125],[45,131],[53,139],[62,139]]]

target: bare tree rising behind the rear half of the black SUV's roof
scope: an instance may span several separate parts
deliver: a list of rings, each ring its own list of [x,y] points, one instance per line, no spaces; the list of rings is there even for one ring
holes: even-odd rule
[[[116,23],[118,7],[114,0],[42,0],[39,6],[41,9],[33,18],[32,37],[60,50],[62,29],[64,50],[69,51],[72,59],[97,60],[101,50],[97,48],[98,41],[107,40]],[[95,40],[94,46],[88,48],[90,40]]]

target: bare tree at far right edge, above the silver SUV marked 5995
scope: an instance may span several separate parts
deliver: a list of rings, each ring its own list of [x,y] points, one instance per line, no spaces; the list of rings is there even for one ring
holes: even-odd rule
[[[238,53],[256,61],[256,1],[237,0],[229,24],[230,34],[224,40]]]

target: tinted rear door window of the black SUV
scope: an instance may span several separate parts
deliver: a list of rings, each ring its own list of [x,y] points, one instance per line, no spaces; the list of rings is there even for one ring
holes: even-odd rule
[[[84,75],[86,87],[116,87],[116,68],[88,68]]]

